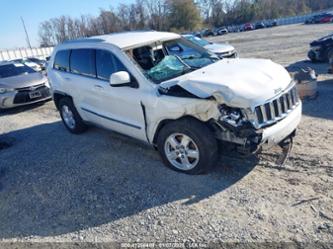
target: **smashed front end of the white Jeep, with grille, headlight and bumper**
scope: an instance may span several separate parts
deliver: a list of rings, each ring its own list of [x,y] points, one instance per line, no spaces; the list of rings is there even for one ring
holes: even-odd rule
[[[159,88],[161,95],[206,100],[205,104],[191,101],[193,105],[187,108],[186,115],[208,123],[215,137],[232,150],[250,156],[262,148],[277,145],[281,148],[281,155],[276,164],[282,166],[286,162],[301,119],[302,105],[294,82],[284,90],[281,87],[266,94],[268,97],[265,99],[247,99],[229,87],[214,89],[213,85],[208,87],[195,81],[191,84],[168,82],[162,86]]]

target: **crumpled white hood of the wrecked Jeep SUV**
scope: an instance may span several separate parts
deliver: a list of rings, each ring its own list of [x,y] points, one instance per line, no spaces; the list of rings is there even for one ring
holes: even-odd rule
[[[270,60],[223,59],[160,86],[179,85],[200,98],[213,96],[219,103],[253,109],[278,95],[290,83],[287,70]]]

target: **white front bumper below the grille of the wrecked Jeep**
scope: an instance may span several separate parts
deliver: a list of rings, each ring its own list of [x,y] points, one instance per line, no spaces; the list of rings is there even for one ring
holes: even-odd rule
[[[302,103],[289,113],[289,115],[280,122],[264,128],[262,133],[262,146],[265,148],[279,144],[296,129],[302,118]]]

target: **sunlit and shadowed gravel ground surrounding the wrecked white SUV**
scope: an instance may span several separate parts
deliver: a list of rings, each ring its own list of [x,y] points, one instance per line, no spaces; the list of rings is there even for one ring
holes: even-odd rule
[[[75,136],[52,102],[3,112],[0,240],[333,242],[333,77],[302,62],[333,25],[229,34],[241,57],[320,73],[283,169],[222,156],[207,175],[175,173],[149,146],[90,129]]]

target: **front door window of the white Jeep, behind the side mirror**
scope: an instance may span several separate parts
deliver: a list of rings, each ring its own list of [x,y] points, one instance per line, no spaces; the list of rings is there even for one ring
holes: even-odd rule
[[[121,61],[112,53],[106,50],[96,50],[97,77],[102,80],[109,80],[111,74],[119,71],[127,71]]]

